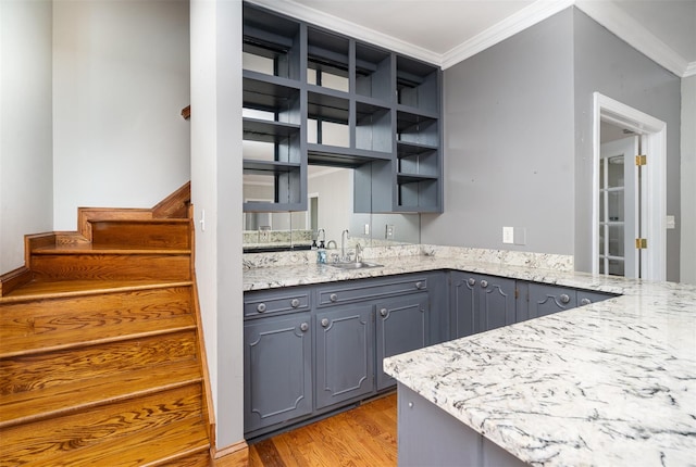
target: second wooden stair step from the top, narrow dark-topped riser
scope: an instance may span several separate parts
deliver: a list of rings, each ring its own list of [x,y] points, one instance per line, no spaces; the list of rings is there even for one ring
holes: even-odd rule
[[[188,250],[99,249],[54,245],[32,251],[35,280],[190,280]]]

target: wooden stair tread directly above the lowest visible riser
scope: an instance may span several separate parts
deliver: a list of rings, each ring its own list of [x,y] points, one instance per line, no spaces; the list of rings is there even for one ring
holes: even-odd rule
[[[196,359],[172,362],[0,396],[0,428],[200,381]]]

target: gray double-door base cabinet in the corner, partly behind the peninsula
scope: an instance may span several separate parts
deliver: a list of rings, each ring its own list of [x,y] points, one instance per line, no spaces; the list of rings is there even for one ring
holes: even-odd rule
[[[453,339],[511,325],[517,320],[515,280],[452,272],[450,304]]]

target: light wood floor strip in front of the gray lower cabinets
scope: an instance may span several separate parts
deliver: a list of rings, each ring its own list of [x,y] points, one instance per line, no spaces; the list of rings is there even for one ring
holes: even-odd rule
[[[252,444],[249,466],[396,466],[396,415],[394,393]]]

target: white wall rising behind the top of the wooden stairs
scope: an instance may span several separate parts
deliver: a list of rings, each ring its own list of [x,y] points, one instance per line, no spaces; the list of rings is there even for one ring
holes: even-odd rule
[[[189,179],[186,0],[53,3],[53,213],[151,207]]]

